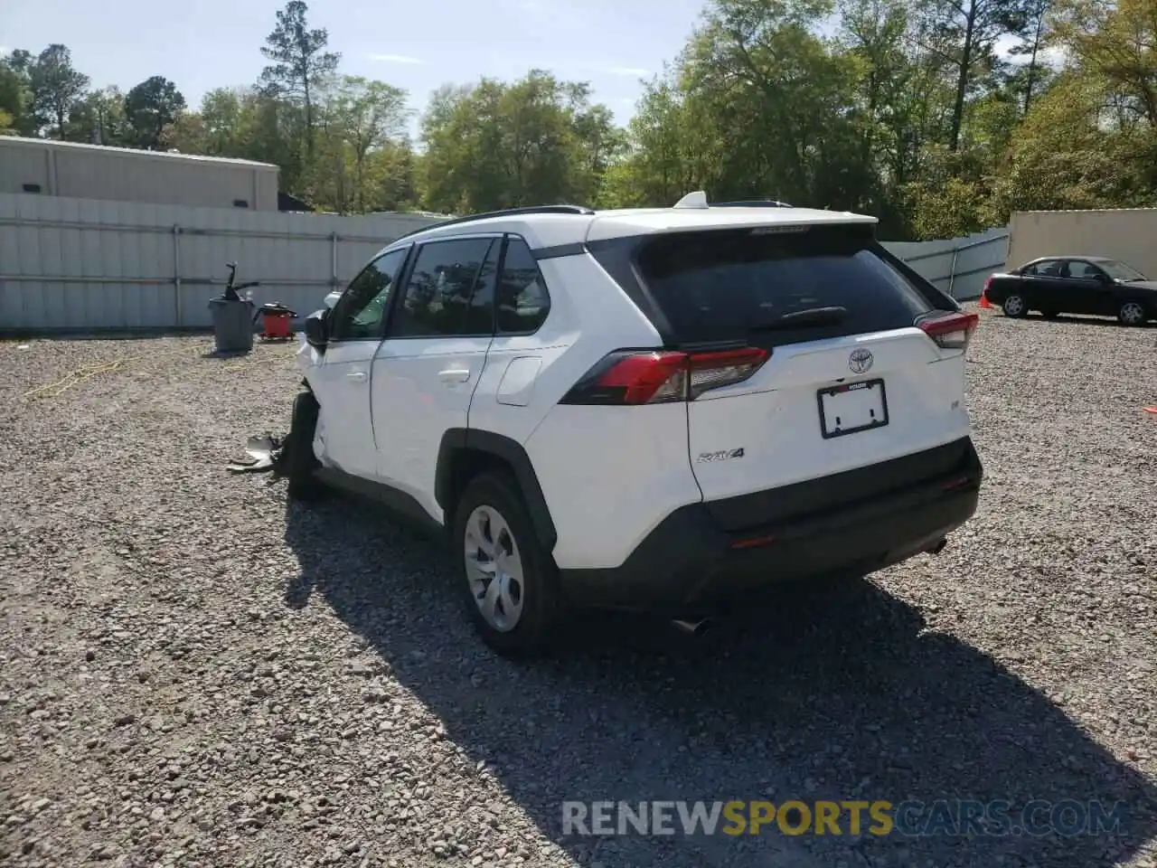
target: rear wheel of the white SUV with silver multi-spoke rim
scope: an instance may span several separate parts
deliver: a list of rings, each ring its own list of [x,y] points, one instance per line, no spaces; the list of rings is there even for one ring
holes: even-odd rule
[[[455,509],[451,554],[478,634],[507,657],[548,650],[562,611],[558,569],[508,473],[472,479]]]

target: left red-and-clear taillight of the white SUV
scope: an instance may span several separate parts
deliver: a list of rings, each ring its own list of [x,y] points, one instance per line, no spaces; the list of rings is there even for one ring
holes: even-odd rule
[[[767,361],[758,347],[708,353],[611,353],[562,398],[562,404],[664,404],[742,383]]]

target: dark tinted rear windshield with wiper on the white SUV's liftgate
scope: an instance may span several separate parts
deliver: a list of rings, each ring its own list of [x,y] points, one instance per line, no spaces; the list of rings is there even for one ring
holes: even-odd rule
[[[902,329],[933,309],[875,252],[874,240],[850,227],[676,233],[646,242],[638,263],[680,341],[817,340]],[[819,308],[847,312],[839,322],[797,319],[789,328],[759,329],[786,314]]]

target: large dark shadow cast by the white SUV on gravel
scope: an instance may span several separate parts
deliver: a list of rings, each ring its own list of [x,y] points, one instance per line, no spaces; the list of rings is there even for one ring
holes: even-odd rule
[[[590,617],[555,659],[514,664],[470,631],[445,554],[376,509],[294,506],[286,539],[301,566],[287,604],[332,606],[580,865],[1093,868],[1157,836],[1144,812],[1151,784],[990,657],[922,632],[916,610],[869,582],[781,601],[698,642]],[[1122,803],[1126,814],[1118,834],[1074,837],[853,837],[847,814],[842,836],[788,838],[774,825],[740,838],[562,833],[565,800],[764,799],[1005,800],[1009,825],[1034,799]],[[935,816],[907,818],[930,831]],[[1032,818],[1048,816],[1046,806]]]

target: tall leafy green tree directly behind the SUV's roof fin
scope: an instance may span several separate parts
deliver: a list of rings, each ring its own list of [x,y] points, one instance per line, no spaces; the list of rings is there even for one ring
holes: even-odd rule
[[[849,113],[856,65],[816,35],[826,0],[715,0],[679,64],[695,175],[714,198],[850,207],[872,185]],[[712,131],[706,133],[706,131]]]

